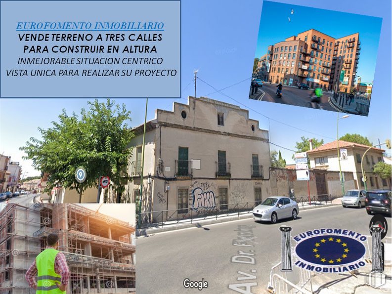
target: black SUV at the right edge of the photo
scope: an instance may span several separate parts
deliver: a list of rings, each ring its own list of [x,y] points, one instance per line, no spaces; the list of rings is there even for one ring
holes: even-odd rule
[[[375,190],[367,191],[365,199],[367,214],[387,213],[391,215],[391,191]]]

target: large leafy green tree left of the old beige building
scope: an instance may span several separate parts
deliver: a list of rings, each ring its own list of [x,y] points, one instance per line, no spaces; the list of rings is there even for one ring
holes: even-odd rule
[[[34,168],[49,174],[46,191],[58,184],[76,189],[81,203],[82,193],[98,186],[99,177],[105,175],[113,184],[117,202],[121,202],[125,190],[122,183],[130,180],[126,170],[131,155],[127,145],[133,137],[127,124],[131,122],[131,112],[110,99],[106,103],[97,99],[87,103],[89,109],[83,108],[80,118],[75,113],[68,116],[63,109],[52,127],[38,128],[42,139],[32,137],[20,150],[27,154],[24,159],[33,161]],[[86,170],[83,183],[75,178],[79,167]]]

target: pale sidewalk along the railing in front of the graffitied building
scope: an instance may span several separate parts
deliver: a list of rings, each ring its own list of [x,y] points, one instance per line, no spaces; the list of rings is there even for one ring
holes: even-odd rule
[[[312,203],[312,205],[309,205],[308,203],[304,203],[304,206],[302,206],[302,204],[299,204],[298,206],[300,209],[300,214],[301,214],[301,211],[304,211],[304,210],[342,205],[341,199],[342,198],[336,198],[336,199],[332,200],[332,203],[328,202],[327,204],[325,202]],[[222,216],[222,215],[225,215],[225,216]],[[181,230],[181,229],[186,229],[186,228],[191,228],[191,227],[200,228],[203,225],[221,223],[221,222],[232,221],[232,220],[248,219],[248,218],[253,218],[252,212],[240,212],[239,214],[236,212],[233,212],[228,215],[225,213],[225,214],[221,214],[220,216],[219,215],[217,215],[217,216],[215,216],[215,215],[204,216],[204,217],[201,216],[201,217],[197,217],[197,218],[193,218],[193,219],[173,220],[173,221],[165,222],[164,225],[162,225],[161,223],[153,223],[143,229],[136,230],[136,236],[137,237],[148,236],[151,234],[174,231],[174,230]]]

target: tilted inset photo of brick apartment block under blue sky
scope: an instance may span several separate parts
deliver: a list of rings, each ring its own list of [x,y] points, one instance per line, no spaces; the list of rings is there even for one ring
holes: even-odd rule
[[[249,98],[367,116],[381,22],[264,1]]]

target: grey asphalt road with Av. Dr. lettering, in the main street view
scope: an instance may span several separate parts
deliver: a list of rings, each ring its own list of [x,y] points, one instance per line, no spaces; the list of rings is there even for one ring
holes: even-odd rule
[[[282,220],[274,225],[245,219],[140,237],[136,240],[136,289],[139,294],[199,293],[197,289],[184,288],[183,281],[188,278],[208,282],[208,288],[203,289],[202,294],[240,293],[228,286],[251,282],[257,282],[252,293],[264,294],[267,293],[270,269],[281,258],[281,225],[293,228],[292,237],[317,228],[342,228],[369,235],[371,218],[365,209],[334,206],[300,210],[297,220]],[[391,230],[391,218],[387,217],[387,221]],[[233,240],[240,239],[239,226],[246,225],[255,226],[247,231],[256,237],[252,239],[254,243],[246,243],[254,247],[234,246]],[[254,255],[248,256],[255,258],[255,264],[232,262],[232,257],[239,255],[239,251],[251,253],[251,250]],[[249,258],[240,260],[251,261]],[[238,271],[252,274],[256,279],[237,281],[238,277],[244,277]]]

